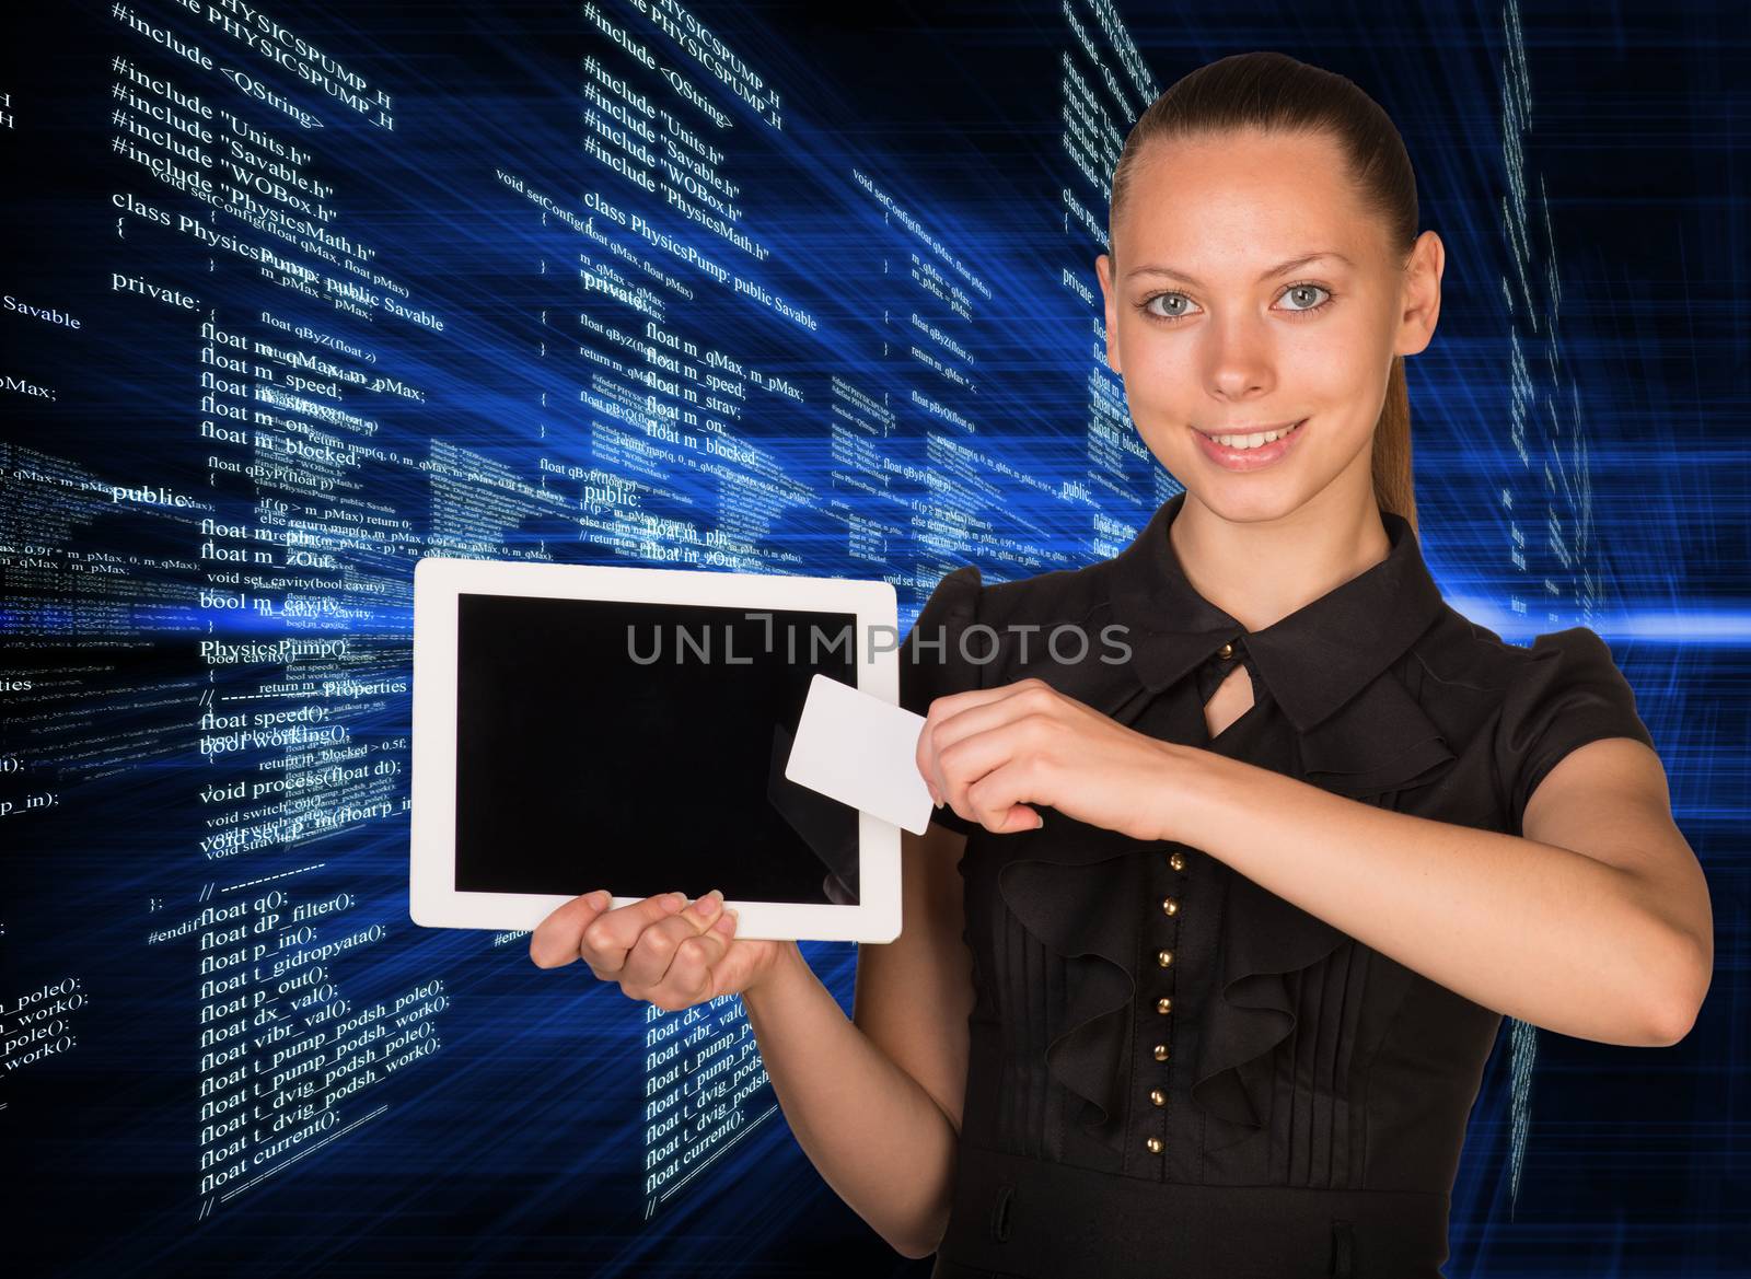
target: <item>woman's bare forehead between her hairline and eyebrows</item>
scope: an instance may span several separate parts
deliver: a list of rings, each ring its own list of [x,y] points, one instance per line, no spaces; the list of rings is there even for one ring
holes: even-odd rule
[[[1289,257],[1338,250],[1366,262],[1375,219],[1331,135],[1234,131],[1150,142],[1114,227],[1121,269],[1161,264],[1252,283]]]

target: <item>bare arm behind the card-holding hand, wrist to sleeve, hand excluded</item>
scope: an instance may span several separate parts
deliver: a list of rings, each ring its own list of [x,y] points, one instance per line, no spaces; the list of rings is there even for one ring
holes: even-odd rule
[[[1600,1043],[1663,1046],[1712,968],[1707,880],[1660,758],[1606,738],[1527,803],[1523,836],[1375,808],[1208,751],[1178,835],[1485,1008]]]

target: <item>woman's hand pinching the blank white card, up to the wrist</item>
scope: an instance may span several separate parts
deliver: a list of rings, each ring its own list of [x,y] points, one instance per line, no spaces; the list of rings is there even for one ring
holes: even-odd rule
[[[1136,840],[1171,838],[1184,752],[1044,679],[951,693],[918,735],[930,798],[996,835],[1042,824],[1030,803]]]

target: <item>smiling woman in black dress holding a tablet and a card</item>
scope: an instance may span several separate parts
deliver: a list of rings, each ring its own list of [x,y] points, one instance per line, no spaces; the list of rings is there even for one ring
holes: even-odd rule
[[[1185,492],[1112,560],[930,597],[937,821],[853,1020],[714,894],[578,898],[531,955],[739,990],[809,1158],[935,1276],[1438,1276],[1502,1015],[1676,1043],[1707,887],[1599,637],[1508,646],[1424,567],[1403,360],[1445,255],[1383,112],[1224,58],[1110,219],[1108,362]]]

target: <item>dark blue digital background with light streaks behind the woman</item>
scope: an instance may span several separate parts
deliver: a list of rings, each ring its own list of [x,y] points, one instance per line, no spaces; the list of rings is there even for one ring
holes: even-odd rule
[[[53,390],[9,383],[0,397],[0,803],[12,805],[0,817],[0,1027],[25,1025],[14,1001],[46,987],[77,980],[82,996],[65,1050],[25,1060],[32,1045],[9,1046],[0,1076],[7,1249],[26,1272],[928,1272],[823,1185],[770,1088],[699,1176],[646,1193],[643,1008],[581,968],[534,969],[524,940],[406,917],[410,700],[394,686],[410,675],[411,570],[427,553],[660,563],[657,551],[706,549],[676,534],[692,528],[742,548],[721,567],[893,581],[904,625],[958,563],[1007,579],[1129,541],[1177,483],[1135,434],[1114,444],[1103,427],[1122,420],[1096,422],[1093,404],[1119,383],[1098,359],[1098,308],[1065,280],[1098,297],[1100,245],[1063,192],[1105,224],[1103,194],[1065,147],[1063,63],[1091,79],[1096,66],[1065,12],[1101,28],[1084,0],[690,5],[779,94],[774,128],[657,31],[651,7],[594,10],[706,89],[732,128],[632,61],[585,5],[271,9],[389,94],[392,128],[170,0],[5,19],[0,285],[81,320],[0,313],[0,373]],[[247,100],[121,9],[252,72],[322,128]],[[1101,65],[1138,103],[1213,58],[1280,49],[1350,75],[1394,117],[1424,226],[1448,248],[1438,338],[1408,364],[1425,556],[1455,607],[1508,639],[1588,625],[1611,642],[1709,873],[1716,978],[1681,1045],[1522,1027],[1516,1046],[1504,1024],[1455,1186],[1448,1274],[1751,1274],[1751,1143],[1735,1120],[1747,1060],[1744,9],[1126,3],[1115,17],[1150,93],[1124,80],[1110,42]],[[583,150],[587,56],[709,136],[760,257]],[[306,149],[336,229],[369,243],[369,269],[443,331],[334,310],[117,206],[131,194],[172,217],[207,213],[114,149],[117,59]],[[1122,138],[1129,119],[1108,105]],[[587,192],[812,325],[653,248]],[[592,213],[595,234],[580,231]],[[226,213],[207,226],[280,245]],[[914,255],[965,292],[960,311],[912,282]],[[643,278],[669,332],[760,371],[765,385],[742,381],[732,450],[658,478],[616,446],[615,432],[644,432],[608,411],[595,357],[644,362],[578,315],[643,325],[623,292],[599,287],[602,266]],[[119,292],[116,273],[198,308]],[[215,467],[250,451],[200,434],[201,322],[263,339],[264,310],[375,357],[329,352],[333,364],[411,392],[348,401],[369,406],[376,457],[305,467],[336,483],[312,507],[376,516],[368,537],[322,523],[308,562],[257,537],[284,530],[287,513],[264,502],[287,500],[289,481]],[[637,483],[643,534],[620,520],[623,485]],[[622,497],[590,509],[592,488]],[[233,546],[270,548],[266,576],[282,584],[215,605],[228,565],[203,558],[201,520],[247,528]],[[310,698],[275,700],[264,670],[212,667],[200,646],[289,637],[345,637],[347,675],[387,691],[343,696],[334,723],[368,744],[373,770],[397,768],[336,793],[331,826],[268,828],[214,861],[203,849],[219,847],[224,805],[201,793],[243,773],[242,759],[201,754],[201,714]],[[303,899],[347,894],[336,934],[380,929],[326,964],[350,1004],[441,983],[441,1046],[348,1099],[326,1144],[242,1193],[203,1193],[200,955],[193,938],[147,938],[277,877]],[[854,950],[805,954],[849,1010]]]

